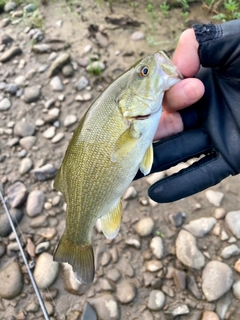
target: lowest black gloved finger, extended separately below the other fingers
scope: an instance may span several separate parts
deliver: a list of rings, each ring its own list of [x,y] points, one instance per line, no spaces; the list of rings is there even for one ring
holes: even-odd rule
[[[230,174],[235,173],[223,157],[212,153],[190,167],[159,180],[149,188],[148,194],[156,202],[172,202],[213,186]]]

